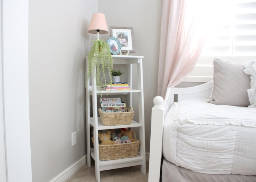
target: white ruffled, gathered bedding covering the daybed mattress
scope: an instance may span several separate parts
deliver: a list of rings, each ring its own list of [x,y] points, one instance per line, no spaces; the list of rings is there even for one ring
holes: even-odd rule
[[[199,173],[256,175],[256,109],[202,99],[174,104],[165,117],[163,156]]]

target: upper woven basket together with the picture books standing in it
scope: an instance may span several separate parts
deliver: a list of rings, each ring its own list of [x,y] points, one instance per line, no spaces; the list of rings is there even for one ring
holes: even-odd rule
[[[132,124],[133,108],[127,109],[121,98],[101,99],[101,108],[98,111],[104,126]]]

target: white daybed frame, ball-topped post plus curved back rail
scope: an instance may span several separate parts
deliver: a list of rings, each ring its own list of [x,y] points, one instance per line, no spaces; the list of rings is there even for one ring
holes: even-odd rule
[[[170,106],[174,102],[174,95],[177,101],[189,98],[209,98],[212,92],[213,81],[194,87],[168,88],[165,99],[161,96],[154,98],[154,107],[151,114],[151,135],[150,135],[150,159],[148,170],[148,182],[157,182],[160,178],[162,158],[162,137],[163,120]]]

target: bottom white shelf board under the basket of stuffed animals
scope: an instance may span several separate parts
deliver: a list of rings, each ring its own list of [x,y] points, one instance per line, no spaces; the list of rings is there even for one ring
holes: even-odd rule
[[[91,157],[95,161],[93,148],[91,148]],[[138,166],[138,165],[143,165],[143,157],[141,157],[139,154],[137,157],[130,157],[130,158],[124,158],[124,159],[114,159],[114,160],[108,160],[108,161],[101,161],[99,159],[100,171],[117,169],[122,167],[129,167],[129,166]]]

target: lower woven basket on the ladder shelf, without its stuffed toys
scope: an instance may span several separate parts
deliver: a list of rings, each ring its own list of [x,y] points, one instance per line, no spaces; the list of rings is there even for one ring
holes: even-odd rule
[[[114,145],[99,145],[99,159],[101,161],[123,159],[129,157],[137,157],[140,141],[136,140],[136,135],[134,138],[136,142],[114,144]],[[94,145],[94,139],[91,138]]]

